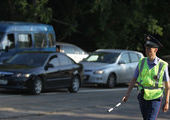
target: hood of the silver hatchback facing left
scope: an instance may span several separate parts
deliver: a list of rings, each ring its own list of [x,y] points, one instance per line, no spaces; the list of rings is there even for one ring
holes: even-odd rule
[[[98,70],[105,69],[108,66],[114,66],[114,64],[109,63],[99,63],[99,62],[81,62],[84,70]]]

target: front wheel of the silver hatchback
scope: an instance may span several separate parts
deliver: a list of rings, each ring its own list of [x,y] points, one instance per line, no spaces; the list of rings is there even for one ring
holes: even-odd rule
[[[107,80],[107,87],[108,88],[113,88],[116,86],[116,75],[115,74],[110,74]]]

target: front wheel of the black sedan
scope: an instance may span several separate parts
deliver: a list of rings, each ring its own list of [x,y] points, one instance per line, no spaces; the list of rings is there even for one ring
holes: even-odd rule
[[[31,83],[30,92],[32,95],[39,95],[42,91],[42,88],[43,88],[42,80],[39,77],[37,77]]]

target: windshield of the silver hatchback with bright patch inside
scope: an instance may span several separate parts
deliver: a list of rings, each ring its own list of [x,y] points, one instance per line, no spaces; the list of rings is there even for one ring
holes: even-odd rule
[[[96,52],[89,55],[83,61],[85,62],[101,62],[101,63],[115,63],[120,53]]]

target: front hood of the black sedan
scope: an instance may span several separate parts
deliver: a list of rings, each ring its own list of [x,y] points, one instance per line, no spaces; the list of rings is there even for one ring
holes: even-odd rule
[[[39,69],[33,66],[27,65],[11,65],[11,64],[2,64],[0,65],[0,72],[10,72],[10,73],[33,73]]]

